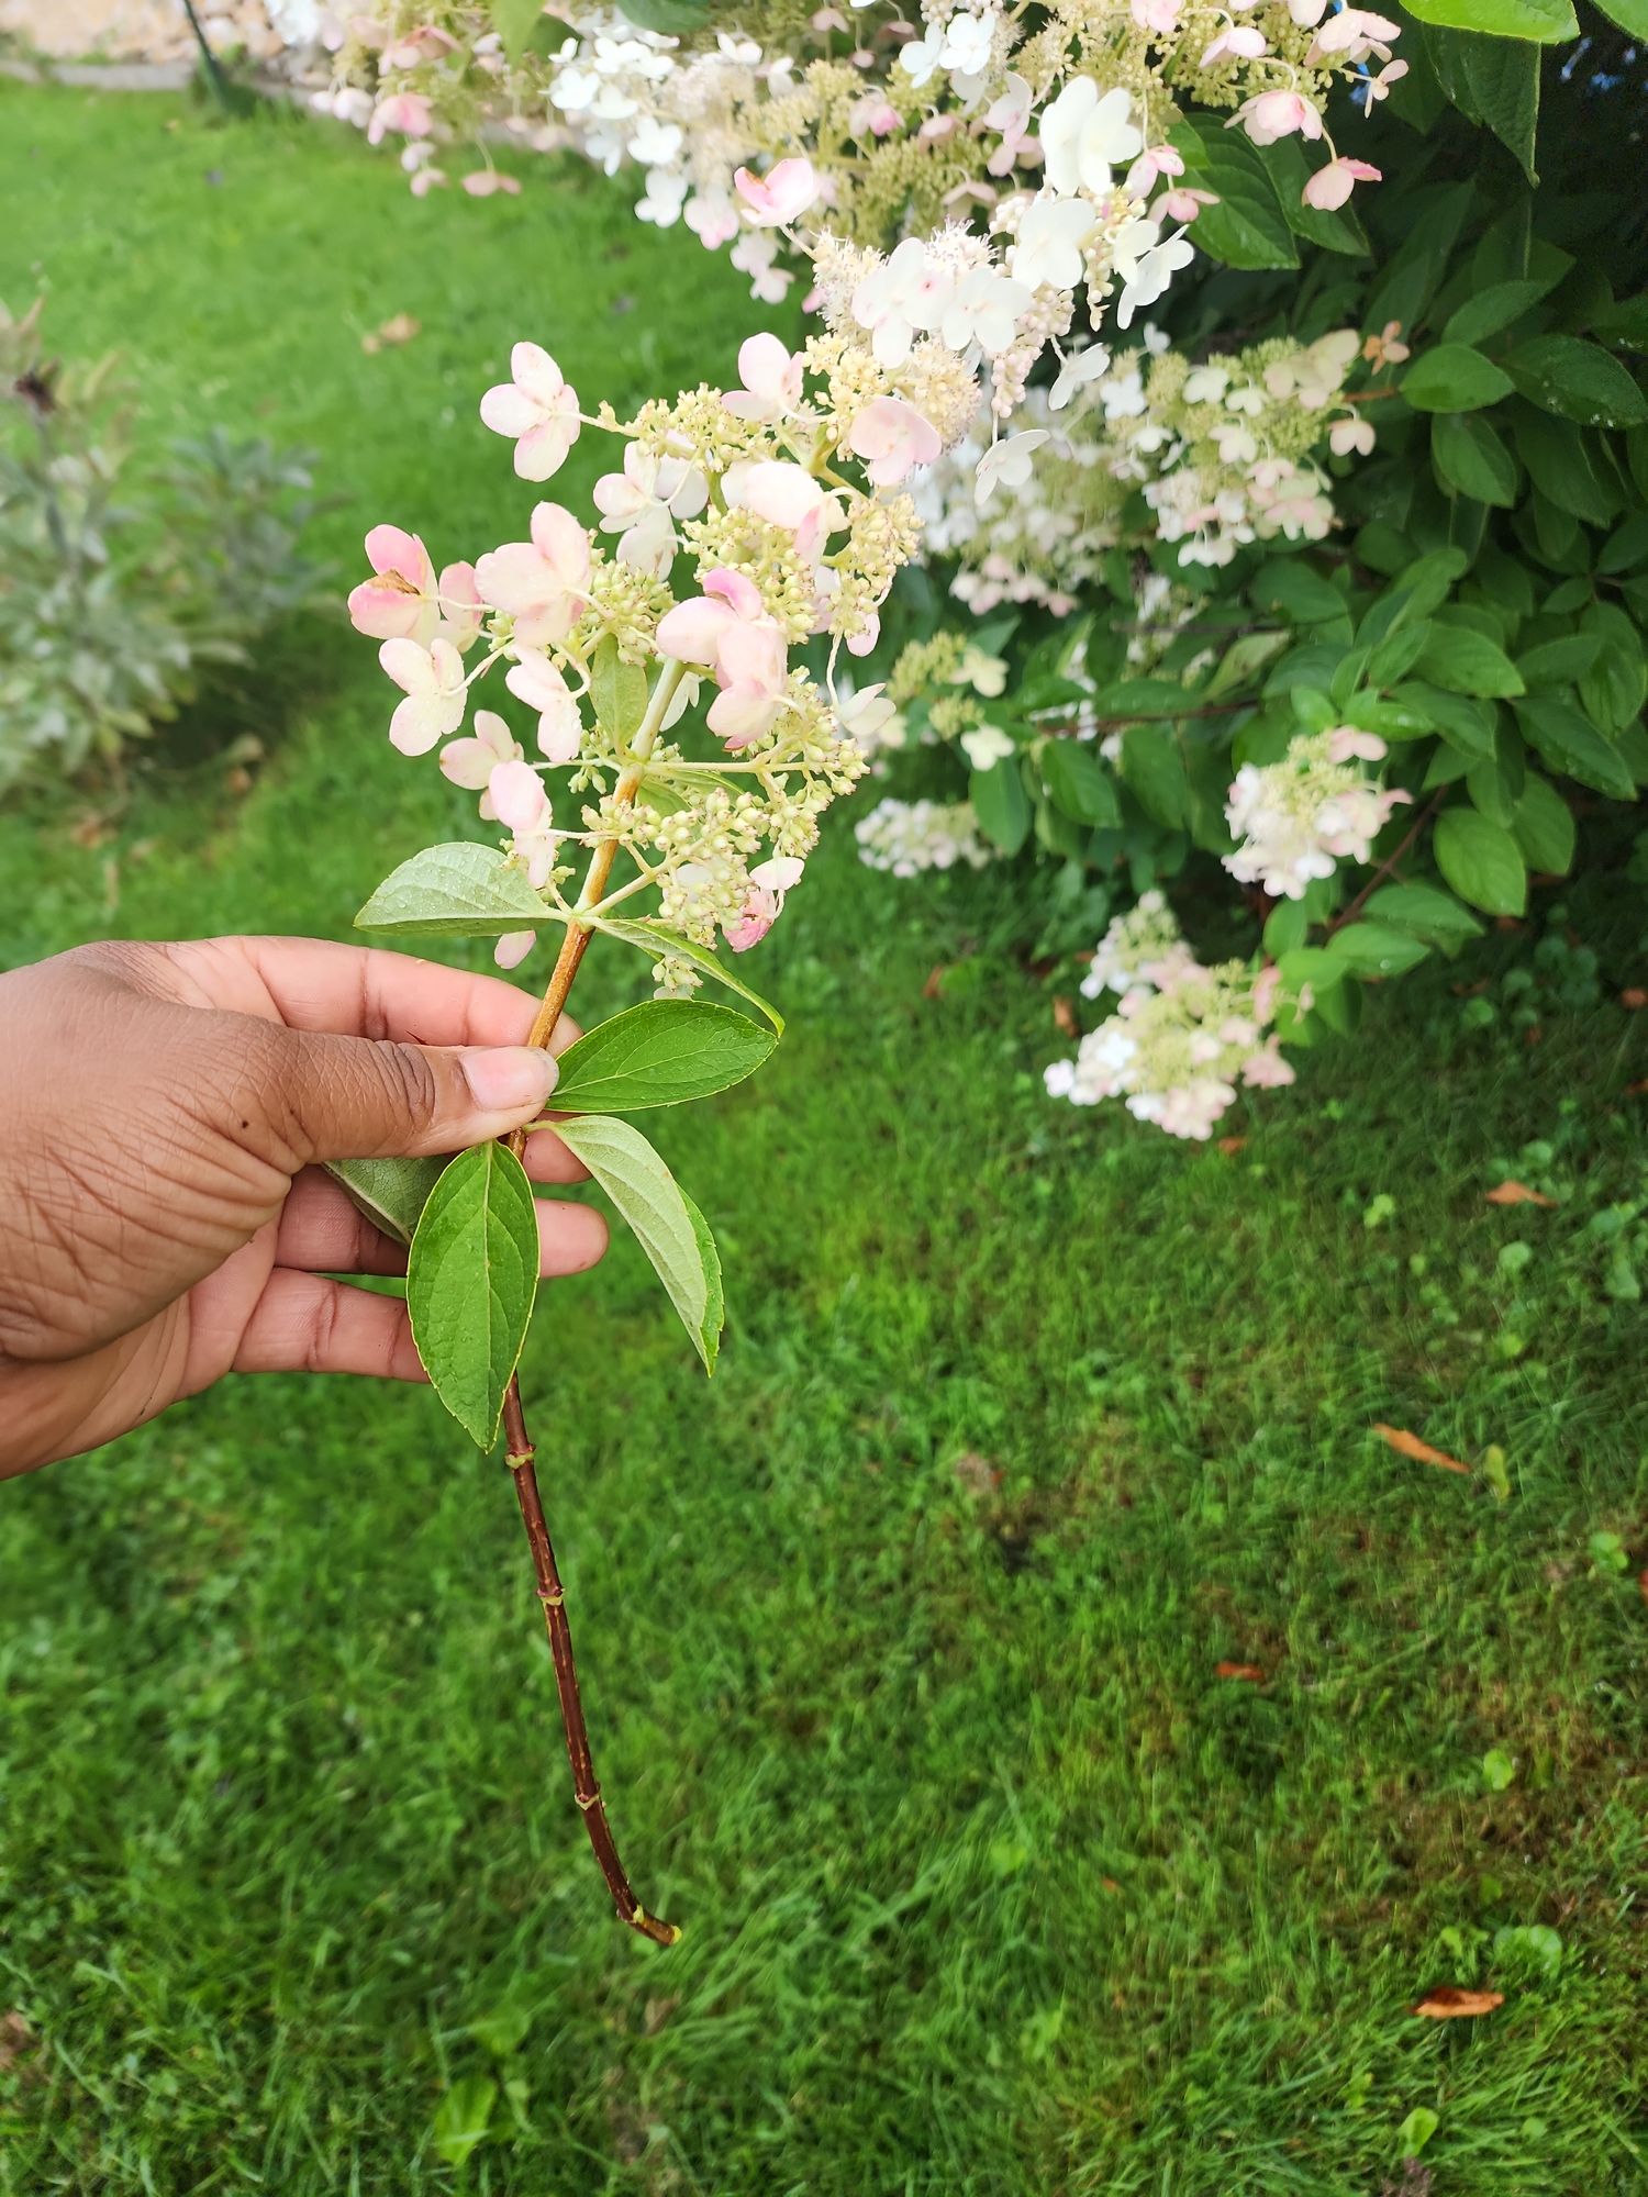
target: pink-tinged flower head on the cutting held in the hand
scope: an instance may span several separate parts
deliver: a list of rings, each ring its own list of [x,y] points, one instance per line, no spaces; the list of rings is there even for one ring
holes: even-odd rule
[[[613,841],[635,863],[617,896],[655,890],[692,949],[725,938],[745,953],[767,936],[822,811],[868,767],[859,736],[892,716],[879,688],[837,696],[835,661],[875,642],[914,554],[901,483],[978,411],[973,363],[943,360],[912,345],[881,365],[846,325],[802,354],[758,336],[738,389],[587,422],[554,358],[519,343],[481,415],[512,437],[530,481],[560,466],[580,426],[620,435],[622,470],[595,486],[600,529],[536,503],[525,540],[439,576],[415,534],[371,529],[349,615],[400,688],[391,740],[409,756],[439,749],[444,778],[477,795],[549,910],[569,912],[569,846]],[[822,679],[793,661],[809,637],[828,642]],[[516,716],[470,718],[470,690],[499,666]],[[552,802],[558,769],[569,778]],[[503,938],[499,962],[532,936]],[[657,980],[690,989],[690,953],[661,953]]]

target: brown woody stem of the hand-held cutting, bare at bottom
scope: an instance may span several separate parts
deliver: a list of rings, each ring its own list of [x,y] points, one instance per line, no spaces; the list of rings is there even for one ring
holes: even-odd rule
[[[657,677],[653,694],[646,705],[646,716],[642,718],[635,740],[631,743],[631,760],[624,765],[624,773],[617,780],[613,802],[626,808],[642,784],[646,773],[646,760],[657,743],[659,725],[670,707],[677,685],[681,683],[683,666],[666,663]],[[578,975],[578,962],[584,958],[584,949],[593,936],[591,927],[580,921],[606,890],[606,879],[613,872],[613,861],[617,857],[617,841],[604,837],[595,844],[589,857],[589,868],[584,870],[584,883],[578,894],[578,905],[567,914],[567,936],[560,943],[560,953],[556,956],[556,967],[549,973],[549,984],[545,986],[543,1002],[538,1006],[536,1022],[532,1024],[530,1044],[547,1046],[554,1037],[556,1024],[560,1022],[560,1011],[567,1004],[567,993]],[[521,1156],[525,1145],[525,1129],[519,1129],[510,1138],[510,1151]],[[595,1780],[595,1762],[589,1749],[589,1725],[584,1722],[584,1703],[578,1692],[578,1661],[571,1648],[571,1624],[567,1619],[567,1591],[560,1584],[560,1569],[556,1564],[554,1542],[549,1540],[549,1520],[543,1514],[543,1496],[538,1492],[538,1463],[536,1450],[532,1446],[532,1435],[527,1432],[525,1408],[521,1404],[521,1378],[514,1375],[503,1395],[503,1441],[510,1463],[510,1479],[514,1481],[514,1496],[521,1505],[521,1523],[527,1531],[527,1549],[532,1551],[532,1571],[538,1582],[538,1602],[543,1604],[543,1624],[549,1635],[549,1661],[556,1670],[556,1698],[560,1700],[560,1722],[567,1733],[567,1762],[571,1764],[571,1791],[578,1802],[578,1813],[584,1819],[584,1830],[589,1832],[589,1843],[593,1848],[595,1861],[600,1863],[600,1874],[606,1878],[606,1889],[613,1896],[613,1907],[617,1909],[620,1922],[628,1922],[631,1929],[639,1931],[642,1938],[650,1938],[653,1944],[675,1944],[681,1936],[675,1922],[664,1922],[653,1916],[635,1898],[631,1881],[624,1872],[624,1863],[617,1856],[617,1841],[613,1839],[613,1828],[606,1821],[606,1804],[600,1797],[600,1784]]]

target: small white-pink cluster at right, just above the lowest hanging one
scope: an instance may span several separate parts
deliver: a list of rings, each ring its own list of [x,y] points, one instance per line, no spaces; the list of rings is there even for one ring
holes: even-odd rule
[[[1413,800],[1362,776],[1358,765],[1382,760],[1378,734],[1332,725],[1301,734],[1281,762],[1244,762],[1224,811],[1241,846],[1224,868],[1244,885],[1301,901],[1336,863],[1367,861],[1391,811]]]

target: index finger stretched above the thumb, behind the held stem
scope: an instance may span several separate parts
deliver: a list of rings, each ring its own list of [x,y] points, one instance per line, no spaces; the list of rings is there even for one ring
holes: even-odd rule
[[[292,1030],[396,1037],[417,1046],[523,1046],[538,1002],[499,975],[330,938],[235,938]],[[578,1037],[567,1015],[552,1052]]]

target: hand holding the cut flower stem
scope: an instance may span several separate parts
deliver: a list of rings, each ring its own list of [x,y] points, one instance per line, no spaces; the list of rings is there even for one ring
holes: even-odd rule
[[[224,1373],[422,1380],[404,1303],[325,1279],[407,1254],[314,1162],[534,1120],[556,1070],[523,1046],[532,1015],[497,978],[308,938],[97,945],[0,975],[0,1476]],[[582,1175],[547,1129],[525,1158],[538,1182]],[[541,1272],[576,1274],[606,1224],[543,1200],[538,1241]]]

